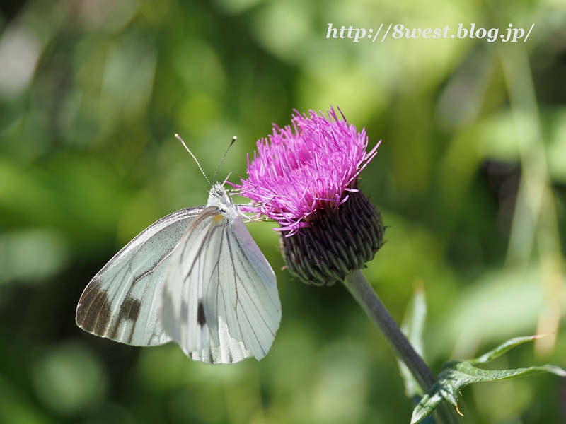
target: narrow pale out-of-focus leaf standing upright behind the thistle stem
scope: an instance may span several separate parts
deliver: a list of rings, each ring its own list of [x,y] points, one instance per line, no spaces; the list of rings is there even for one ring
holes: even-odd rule
[[[412,347],[421,357],[423,356],[423,343],[422,334],[424,333],[424,322],[427,318],[427,302],[424,298],[424,289],[422,286],[415,287],[415,293],[412,295],[405,316],[403,317],[403,324],[401,331],[407,336]],[[417,380],[409,371],[407,365],[402,360],[398,360],[399,370],[403,382],[405,383],[405,394],[407,397],[422,396],[422,389],[420,388]]]

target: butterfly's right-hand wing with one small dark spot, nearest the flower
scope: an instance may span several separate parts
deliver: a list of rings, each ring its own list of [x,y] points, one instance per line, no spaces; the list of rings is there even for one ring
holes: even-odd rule
[[[192,359],[236,363],[265,356],[281,303],[275,273],[240,219],[228,223],[209,206],[187,228],[171,259],[161,319]]]

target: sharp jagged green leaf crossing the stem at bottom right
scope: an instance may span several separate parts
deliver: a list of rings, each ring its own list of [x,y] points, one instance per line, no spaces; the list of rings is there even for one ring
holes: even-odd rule
[[[458,410],[458,398],[460,391],[468,384],[477,382],[495,382],[504,379],[524,377],[526,375],[538,374],[540,372],[552,372],[555,375],[566,377],[566,370],[557,365],[541,365],[538,367],[517,368],[515,370],[482,370],[475,365],[490,362],[498,356],[506,353],[509,349],[522,343],[536,340],[542,336],[527,336],[512,338],[497,346],[492,351],[472,360],[453,360],[442,367],[437,382],[430,388],[429,392],[422,396],[420,403],[412,411],[411,424],[420,423],[429,416],[442,401],[448,401]],[[462,414],[461,414],[462,415]]]

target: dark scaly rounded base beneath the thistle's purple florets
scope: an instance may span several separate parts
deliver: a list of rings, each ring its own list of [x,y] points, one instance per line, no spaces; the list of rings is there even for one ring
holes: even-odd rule
[[[357,188],[355,183],[352,188]],[[359,191],[351,192],[337,209],[318,209],[308,223],[294,235],[281,237],[289,272],[306,284],[343,281],[364,268],[383,245],[381,215]]]

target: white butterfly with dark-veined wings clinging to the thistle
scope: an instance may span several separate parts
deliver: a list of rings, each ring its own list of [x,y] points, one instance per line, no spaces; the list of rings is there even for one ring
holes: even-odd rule
[[[76,324],[134,346],[175,341],[207,363],[263,358],[281,302],[275,273],[243,217],[216,183],[207,206],[150,225],[88,283]]]

